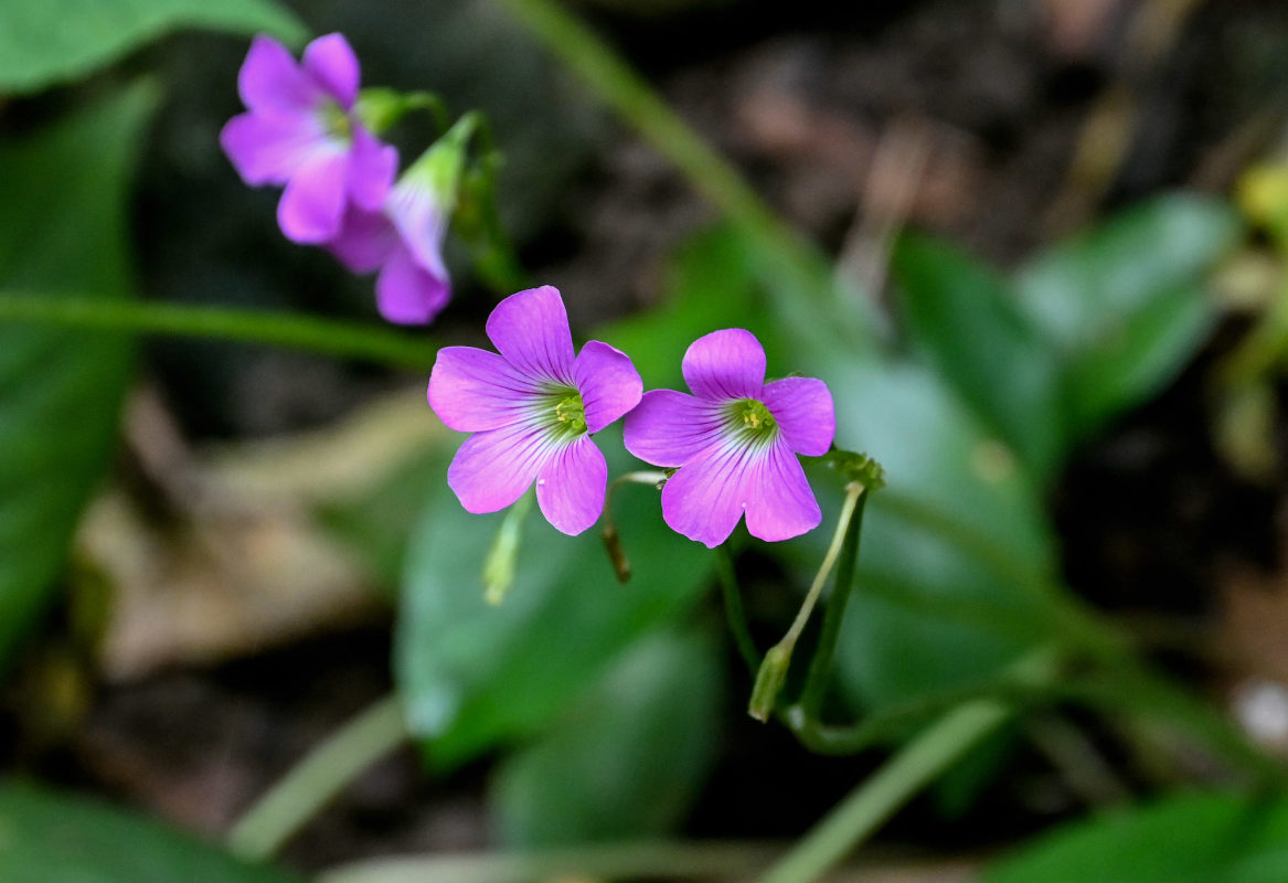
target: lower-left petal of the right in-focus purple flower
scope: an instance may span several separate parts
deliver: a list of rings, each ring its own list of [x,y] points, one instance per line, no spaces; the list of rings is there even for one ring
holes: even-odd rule
[[[755,461],[764,449],[716,444],[662,487],[662,517],[676,533],[715,548],[738,526],[755,490]]]

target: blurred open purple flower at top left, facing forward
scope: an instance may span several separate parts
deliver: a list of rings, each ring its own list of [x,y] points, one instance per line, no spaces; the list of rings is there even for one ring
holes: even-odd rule
[[[358,121],[358,59],[339,33],[318,37],[296,64],[286,48],[256,36],[237,76],[249,111],[229,120],[219,143],[242,179],[285,184],[282,233],[327,242],[349,203],[375,210],[398,169],[398,152]]]

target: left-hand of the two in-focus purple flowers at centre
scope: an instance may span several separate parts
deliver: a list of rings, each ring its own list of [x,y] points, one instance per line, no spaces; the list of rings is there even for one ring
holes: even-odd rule
[[[592,340],[573,354],[568,313],[550,286],[510,295],[487,336],[500,355],[444,346],[429,377],[429,404],[450,427],[474,432],[447,484],[470,512],[505,508],[537,483],[546,520],[578,534],[604,508],[608,465],[598,432],[635,407],[643,384],[625,353]]]

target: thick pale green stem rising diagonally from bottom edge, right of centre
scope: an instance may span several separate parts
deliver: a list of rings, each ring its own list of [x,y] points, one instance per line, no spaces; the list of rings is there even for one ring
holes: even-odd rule
[[[1057,655],[1042,647],[1020,660],[1014,672],[1027,682],[1041,683],[1052,680],[1057,667]],[[922,788],[1001,729],[1011,714],[1011,707],[996,699],[971,702],[945,714],[841,801],[760,883],[808,883],[820,878]]]

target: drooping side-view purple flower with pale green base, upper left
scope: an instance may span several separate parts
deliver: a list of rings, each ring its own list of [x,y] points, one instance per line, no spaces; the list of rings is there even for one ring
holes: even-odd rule
[[[455,144],[439,142],[403,172],[380,211],[349,209],[327,243],[352,272],[380,270],[376,308],[389,322],[428,324],[452,297],[443,239],[462,161]]]

